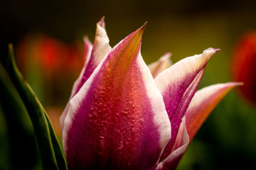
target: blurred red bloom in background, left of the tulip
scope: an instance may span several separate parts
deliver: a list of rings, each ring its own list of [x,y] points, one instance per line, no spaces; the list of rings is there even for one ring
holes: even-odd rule
[[[44,34],[28,35],[18,44],[17,57],[25,73],[30,71],[29,64],[33,64],[45,76],[58,76],[67,72],[76,75],[83,67],[83,45],[67,45]]]

